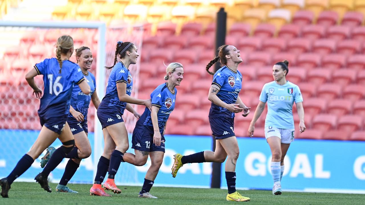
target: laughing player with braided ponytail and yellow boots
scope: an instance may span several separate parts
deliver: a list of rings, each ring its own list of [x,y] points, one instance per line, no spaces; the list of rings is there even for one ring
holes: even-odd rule
[[[220,61],[223,65],[216,73],[209,71],[209,68]],[[242,74],[237,70],[238,64],[242,62],[240,51],[231,45],[219,47],[219,56],[208,63],[208,73],[214,75],[212,86],[209,90],[208,99],[212,101],[209,111],[209,122],[213,135],[216,139],[215,151],[203,151],[192,155],[174,155],[172,176],[176,177],[178,169],[186,163],[201,162],[226,162],[226,179],[228,186],[227,201],[248,201],[236,191],[236,163],[239,155],[239,148],[234,134],[235,113],[243,111],[242,116],[250,113],[250,108],[243,104],[238,93],[242,88]]]

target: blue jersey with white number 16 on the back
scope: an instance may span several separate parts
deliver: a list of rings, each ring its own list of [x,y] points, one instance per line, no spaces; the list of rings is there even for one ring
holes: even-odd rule
[[[67,116],[70,110],[72,88],[85,80],[80,67],[69,60],[62,61],[62,71],[59,73],[59,63],[56,58],[45,59],[35,64],[38,75],[43,75],[44,92],[39,105],[40,117]]]

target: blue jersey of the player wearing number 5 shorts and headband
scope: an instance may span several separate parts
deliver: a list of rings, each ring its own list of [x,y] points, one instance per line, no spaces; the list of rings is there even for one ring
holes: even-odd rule
[[[118,82],[125,82],[127,84],[126,93],[130,96],[133,86],[132,76],[129,70],[121,62],[116,63],[110,72],[107,92],[99,105],[98,111],[103,109],[117,109],[123,115],[127,103],[119,100],[118,91],[116,89],[116,84]]]

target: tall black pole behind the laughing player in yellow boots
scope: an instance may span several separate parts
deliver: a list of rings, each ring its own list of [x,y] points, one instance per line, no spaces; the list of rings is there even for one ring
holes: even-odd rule
[[[222,46],[226,43],[226,23],[227,23],[227,13],[224,11],[224,8],[220,8],[217,13],[217,25],[215,31],[215,56],[218,56],[218,47]],[[215,63],[214,71],[220,69],[219,62]],[[215,137],[213,136],[213,151],[215,150]],[[222,163],[213,162],[212,165],[212,179],[211,179],[211,188],[220,188],[220,177]]]

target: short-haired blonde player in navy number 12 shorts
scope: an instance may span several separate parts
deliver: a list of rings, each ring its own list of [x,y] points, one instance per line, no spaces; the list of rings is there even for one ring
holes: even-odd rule
[[[157,198],[149,192],[164,159],[166,122],[175,108],[177,93],[175,86],[180,85],[183,75],[184,69],[181,63],[174,62],[167,66],[165,76],[167,82],[157,86],[151,93],[152,109],[151,111],[145,109],[134,128],[132,148],[135,155],[125,153],[123,156],[125,162],[135,166],[143,166],[148,156],[151,158],[151,166],[146,173],[139,197]]]

